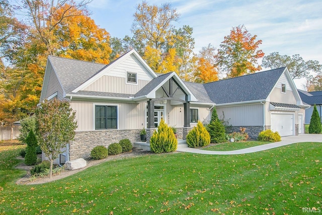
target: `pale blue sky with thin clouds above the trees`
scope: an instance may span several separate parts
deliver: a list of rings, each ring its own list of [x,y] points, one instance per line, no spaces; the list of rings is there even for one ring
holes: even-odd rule
[[[137,0],[93,0],[89,5],[92,19],[112,37],[131,36],[130,27]],[[195,52],[209,43],[219,47],[232,27],[245,25],[263,43],[265,54],[300,54],[304,60],[322,63],[322,1],[207,1],[173,0],[147,1],[160,6],[170,2],[181,14],[177,28],[193,27]],[[259,62],[260,63],[260,62]],[[298,88],[304,83],[295,81]],[[299,83],[299,84],[298,84]]]

